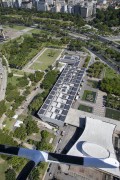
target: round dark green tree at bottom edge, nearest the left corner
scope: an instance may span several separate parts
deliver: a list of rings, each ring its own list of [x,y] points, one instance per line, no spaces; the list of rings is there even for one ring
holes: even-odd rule
[[[16,173],[13,169],[7,169],[5,172],[5,179],[6,180],[16,180]]]

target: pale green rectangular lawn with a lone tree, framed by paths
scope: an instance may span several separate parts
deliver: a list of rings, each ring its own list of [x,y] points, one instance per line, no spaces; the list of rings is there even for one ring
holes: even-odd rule
[[[30,68],[44,71],[55,62],[60,53],[61,50],[47,49]]]

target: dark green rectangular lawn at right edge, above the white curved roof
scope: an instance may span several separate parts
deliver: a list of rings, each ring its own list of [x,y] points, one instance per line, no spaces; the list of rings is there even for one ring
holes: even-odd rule
[[[120,121],[120,111],[106,108],[105,117],[116,119],[116,120]]]

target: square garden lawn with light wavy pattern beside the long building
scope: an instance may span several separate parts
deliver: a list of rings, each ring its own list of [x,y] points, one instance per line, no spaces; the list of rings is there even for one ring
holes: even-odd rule
[[[82,100],[94,103],[96,98],[96,92],[85,90]]]

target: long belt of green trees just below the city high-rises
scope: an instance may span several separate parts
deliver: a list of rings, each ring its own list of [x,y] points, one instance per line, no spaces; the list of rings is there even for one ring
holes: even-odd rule
[[[26,26],[31,26],[34,23],[38,23],[38,20],[40,22],[43,22],[43,21],[46,21],[48,23],[51,22],[51,24],[57,23],[57,26],[62,26],[63,28],[71,26],[71,23],[73,24],[73,26],[78,26],[78,27],[85,25],[85,21],[78,14],[74,15],[74,14],[69,14],[69,13],[37,12],[34,9],[24,10],[24,9],[1,7],[0,15],[1,15],[0,21],[2,23],[12,22],[12,23],[17,23],[17,24],[25,24]]]

